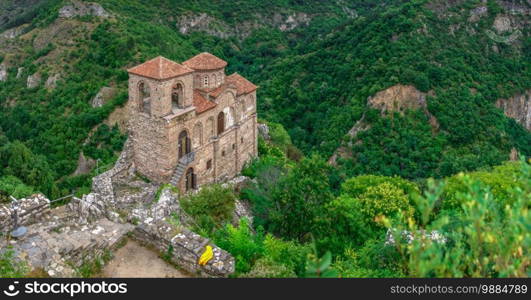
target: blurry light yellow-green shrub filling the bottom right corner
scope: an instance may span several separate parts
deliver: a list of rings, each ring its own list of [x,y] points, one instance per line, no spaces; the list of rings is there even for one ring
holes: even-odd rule
[[[531,167],[522,162],[517,173],[522,187],[511,190],[511,204],[500,205],[489,186],[463,175],[465,191],[456,194],[462,213],[454,215],[461,226],[451,226],[444,215],[434,221],[423,218],[421,223],[402,219],[394,227],[409,232],[437,230],[446,242],[434,242],[425,235],[411,244],[397,242],[394,248],[400,261],[415,277],[527,277],[531,264],[529,249],[529,199]],[[444,183],[429,182],[429,190],[420,197],[422,215],[430,215],[433,203],[445,189]],[[453,221],[452,221],[453,222]]]

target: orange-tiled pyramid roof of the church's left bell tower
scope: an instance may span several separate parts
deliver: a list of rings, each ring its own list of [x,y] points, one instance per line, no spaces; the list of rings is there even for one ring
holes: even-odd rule
[[[178,64],[162,56],[157,56],[152,60],[148,60],[143,64],[127,70],[129,73],[159,80],[177,77],[191,73],[193,71],[194,70],[186,66]]]

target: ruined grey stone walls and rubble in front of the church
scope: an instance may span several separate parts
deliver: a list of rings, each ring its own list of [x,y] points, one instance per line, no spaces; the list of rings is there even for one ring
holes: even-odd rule
[[[228,277],[235,260],[209,239],[189,229],[193,219],[180,207],[179,194],[172,187],[159,186],[137,178],[131,162],[131,143],[115,166],[93,178],[93,190],[55,209],[43,195],[19,200],[20,212],[38,207],[21,218],[28,232],[19,239],[2,237],[0,251],[13,249],[30,269],[42,269],[51,277],[80,276],[78,268],[114,251],[131,237],[150,245],[180,268],[200,277]],[[248,182],[237,177],[226,184],[240,188]],[[125,193],[124,190],[128,190]],[[159,194],[159,196],[156,196]],[[12,230],[11,205],[0,206],[0,225],[8,237]],[[252,220],[248,206],[238,201],[235,216]],[[198,260],[207,245],[214,257],[200,266]],[[10,246],[10,247],[8,247]]]

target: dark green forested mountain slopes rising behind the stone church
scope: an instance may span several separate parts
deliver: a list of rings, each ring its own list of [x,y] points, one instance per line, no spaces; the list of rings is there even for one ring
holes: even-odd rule
[[[81,151],[100,167],[116,158],[127,67],[201,51],[258,83],[260,116],[305,153],[330,156],[343,143],[348,176],[439,177],[498,164],[513,148],[531,153],[529,132],[495,106],[531,87],[525,1],[34,2],[0,25],[0,141],[21,141],[32,156],[14,156],[46,176],[0,175],[47,193],[88,187],[102,171],[70,176]],[[424,111],[367,106],[398,84],[428,95],[437,131]],[[102,87],[114,96],[93,107]],[[350,141],[362,116],[371,126]],[[2,148],[7,166],[13,153]]]

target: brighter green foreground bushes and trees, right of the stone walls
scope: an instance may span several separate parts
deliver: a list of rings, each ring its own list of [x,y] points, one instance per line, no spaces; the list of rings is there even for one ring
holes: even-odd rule
[[[234,255],[234,276],[525,277],[531,271],[528,162],[422,184],[361,175],[338,186],[318,156],[296,163],[271,143],[261,141],[260,149],[260,159],[244,171],[254,181],[239,195],[251,203],[253,224],[242,219],[235,226],[230,188],[204,188],[182,200],[194,229]]]

